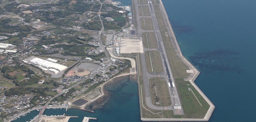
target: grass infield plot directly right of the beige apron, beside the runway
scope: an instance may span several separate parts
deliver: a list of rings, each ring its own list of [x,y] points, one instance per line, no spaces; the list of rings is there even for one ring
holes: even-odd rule
[[[142,33],[142,43],[145,48],[158,48],[156,34],[154,32],[143,32]]]

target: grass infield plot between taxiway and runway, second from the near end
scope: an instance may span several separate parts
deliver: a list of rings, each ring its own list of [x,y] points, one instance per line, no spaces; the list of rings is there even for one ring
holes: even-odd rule
[[[164,71],[162,58],[159,51],[146,51],[145,58],[149,73],[161,73]]]

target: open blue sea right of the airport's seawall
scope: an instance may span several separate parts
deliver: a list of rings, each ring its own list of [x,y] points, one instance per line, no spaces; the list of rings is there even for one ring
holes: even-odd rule
[[[163,3],[183,55],[201,72],[195,83],[216,106],[210,122],[256,121],[256,1]]]

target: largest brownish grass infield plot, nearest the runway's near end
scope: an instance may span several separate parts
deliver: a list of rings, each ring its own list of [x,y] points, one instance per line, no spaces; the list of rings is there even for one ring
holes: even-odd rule
[[[172,104],[165,78],[150,78],[149,88],[151,100],[154,105],[170,106]],[[156,104],[156,102],[160,104]]]

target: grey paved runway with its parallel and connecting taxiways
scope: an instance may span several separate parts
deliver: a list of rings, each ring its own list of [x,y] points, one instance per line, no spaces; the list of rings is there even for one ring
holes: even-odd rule
[[[143,83],[144,83],[144,91],[145,91],[145,102],[146,105],[154,110],[174,110],[174,114],[176,115],[184,115],[182,105],[180,102],[178,90],[176,89],[175,81],[172,75],[172,70],[171,66],[168,60],[168,57],[166,55],[165,49],[164,49],[164,43],[163,39],[161,37],[161,33],[159,30],[158,22],[155,16],[155,11],[152,5],[152,1],[148,0],[148,4],[144,6],[148,6],[151,16],[148,18],[152,18],[152,22],[154,25],[154,30],[142,30],[141,25],[140,25],[140,18],[144,18],[139,15],[139,6],[141,4],[138,3],[138,0],[135,0],[135,7],[134,10],[136,12],[136,18],[137,18],[137,25],[138,25],[138,32],[139,35],[142,37],[143,32],[155,32],[156,34],[156,39],[158,43],[158,48],[156,49],[148,49],[144,47],[144,54],[141,54],[141,62],[142,62],[142,72],[143,72]],[[161,60],[162,60],[162,65],[164,67],[164,72],[162,73],[148,73],[147,71],[147,66],[146,66],[146,59],[145,59],[145,52],[146,51],[159,51],[161,52]],[[172,102],[172,105],[170,106],[156,106],[152,103],[151,96],[150,96],[150,91],[149,91],[149,79],[154,78],[154,77],[163,77],[166,79],[166,87],[168,87],[169,90],[169,95],[170,95],[170,101]],[[167,96],[166,96],[167,97]],[[144,99],[144,98],[143,98]],[[160,103],[161,104],[161,103]]]

